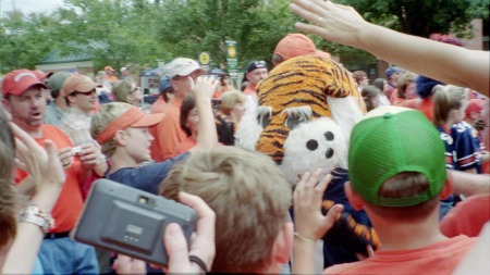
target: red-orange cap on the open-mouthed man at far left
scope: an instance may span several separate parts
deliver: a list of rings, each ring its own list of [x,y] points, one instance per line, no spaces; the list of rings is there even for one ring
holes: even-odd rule
[[[19,96],[34,86],[40,86],[45,89],[48,88],[33,71],[27,68],[15,70],[8,73],[3,78],[2,95],[3,97],[9,93]]]

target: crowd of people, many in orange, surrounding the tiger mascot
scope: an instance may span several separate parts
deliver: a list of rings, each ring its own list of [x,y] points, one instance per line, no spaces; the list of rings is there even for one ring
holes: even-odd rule
[[[488,51],[467,50],[453,37],[396,33],[330,1],[293,0],[290,8],[311,23],[296,23],[299,30],[396,64],[372,85],[366,72],[350,76],[367,113],[350,133],[342,188],[348,207],[367,214],[380,248],[368,246],[367,254],[323,273],[489,273]],[[331,58],[306,35],[290,34],[271,64],[304,55]],[[225,74],[175,58],[150,108],[142,105],[128,67],[120,77],[111,66],[94,78],[8,73],[0,108],[2,273],[157,272],[70,238],[98,178],[196,211],[191,243],[175,224],[159,240],[169,254],[163,272],[318,273],[318,253],[327,253],[318,240],[345,210],[332,204],[324,211],[332,175],[306,172],[293,188],[271,158],[235,145],[269,70],[266,61],[250,61],[237,89]]]

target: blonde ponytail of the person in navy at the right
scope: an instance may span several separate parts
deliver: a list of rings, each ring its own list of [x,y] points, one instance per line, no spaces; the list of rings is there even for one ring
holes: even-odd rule
[[[448,121],[451,110],[462,109],[468,99],[468,91],[453,85],[437,85],[433,91],[433,124],[441,126]]]

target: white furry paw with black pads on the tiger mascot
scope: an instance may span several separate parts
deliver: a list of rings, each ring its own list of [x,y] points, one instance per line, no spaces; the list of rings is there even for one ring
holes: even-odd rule
[[[302,123],[290,132],[284,141],[284,159],[280,165],[290,183],[298,175],[322,168],[347,168],[347,140],[339,125],[329,117]]]

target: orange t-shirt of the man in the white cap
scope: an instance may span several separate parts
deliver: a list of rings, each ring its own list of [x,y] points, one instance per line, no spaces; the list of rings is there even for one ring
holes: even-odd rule
[[[163,120],[150,128],[155,137],[154,143],[158,142],[152,148],[159,147],[159,150],[151,150],[151,159],[157,162],[172,158],[176,146],[187,137],[181,128],[181,105],[182,99],[172,99],[163,111]]]

